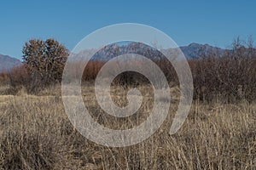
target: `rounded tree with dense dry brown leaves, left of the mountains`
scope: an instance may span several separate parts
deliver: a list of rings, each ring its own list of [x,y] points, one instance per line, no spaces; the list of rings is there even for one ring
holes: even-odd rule
[[[23,64],[33,82],[40,82],[41,85],[61,82],[68,50],[55,39],[32,39],[25,43],[22,53]]]

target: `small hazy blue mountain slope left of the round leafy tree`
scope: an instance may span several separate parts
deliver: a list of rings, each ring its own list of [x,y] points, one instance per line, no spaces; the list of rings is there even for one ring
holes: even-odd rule
[[[18,65],[21,65],[21,61],[19,59],[15,59],[9,55],[0,54],[0,72],[10,71]]]

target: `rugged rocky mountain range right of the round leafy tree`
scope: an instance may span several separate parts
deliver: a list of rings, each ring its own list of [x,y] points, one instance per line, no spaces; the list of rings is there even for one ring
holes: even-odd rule
[[[208,55],[211,53],[222,55],[226,51],[228,51],[228,49],[212,47],[208,44],[203,45],[195,42],[189,44],[189,46],[180,47],[180,49],[183,51],[183,54],[187,59],[201,58],[204,55]],[[164,50],[169,54],[175,55],[177,53],[177,48],[168,48]],[[78,54],[78,58],[82,59],[83,56],[87,56],[90,53],[92,53],[90,50],[81,51]],[[92,59],[107,61],[121,54],[141,54],[150,59],[160,59],[161,57],[165,57],[155,48],[151,48],[150,46],[145,45],[142,42],[131,42],[126,45],[118,45],[116,43],[109,44],[97,51]]]

